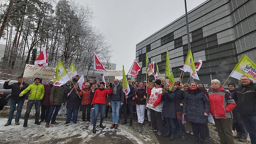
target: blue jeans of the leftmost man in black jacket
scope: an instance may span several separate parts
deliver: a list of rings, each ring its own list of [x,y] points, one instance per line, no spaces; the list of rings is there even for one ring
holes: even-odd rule
[[[13,113],[15,111],[15,107],[17,105],[17,113],[16,113],[16,117],[15,117],[15,122],[19,122],[20,121],[20,114],[21,114],[21,110],[22,110],[22,106],[24,104],[24,99],[10,99],[10,112],[9,112],[9,118],[8,118],[8,123],[12,123],[12,118],[13,118]]]

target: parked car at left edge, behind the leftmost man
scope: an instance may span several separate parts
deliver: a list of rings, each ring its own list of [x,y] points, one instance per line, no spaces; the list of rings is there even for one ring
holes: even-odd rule
[[[6,80],[0,80],[0,110],[2,110],[5,105],[8,105],[12,93],[11,89],[4,89],[5,81]],[[9,85],[17,82],[16,80],[11,80]]]

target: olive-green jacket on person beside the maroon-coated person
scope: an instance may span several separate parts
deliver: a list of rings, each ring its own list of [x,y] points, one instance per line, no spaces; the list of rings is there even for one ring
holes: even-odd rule
[[[53,86],[50,94],[50,102],[53,102],[54,105],[61,105],[65,102],[66,97],[66,87],[62,86]]]

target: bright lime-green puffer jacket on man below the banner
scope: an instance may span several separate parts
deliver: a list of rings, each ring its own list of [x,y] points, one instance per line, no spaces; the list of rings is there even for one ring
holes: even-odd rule
[[[30,91],[30,95],[28,100],[42,100],[44,97],[44,85],[42,84],[31,84],[26,89],[24,89],[20,94],[26,94],[28,91]]]

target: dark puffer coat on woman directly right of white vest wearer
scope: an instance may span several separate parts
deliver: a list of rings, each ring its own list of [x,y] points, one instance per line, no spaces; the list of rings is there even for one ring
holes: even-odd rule
[[[175,104],[174,104],[174,93],[173,91],[162,94],[161,100],[164,101],[162,116],[168,118],[176,118]]]

